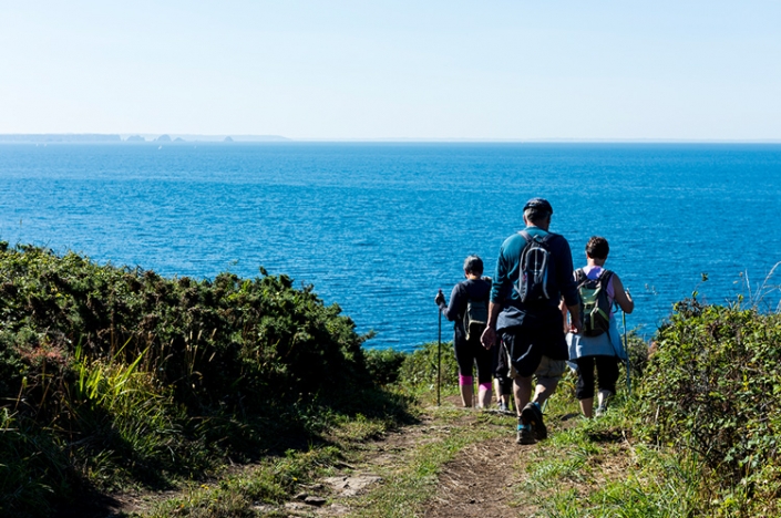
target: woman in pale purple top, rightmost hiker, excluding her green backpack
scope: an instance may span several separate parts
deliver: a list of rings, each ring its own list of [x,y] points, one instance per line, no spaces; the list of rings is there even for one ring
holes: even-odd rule
[[[603,274],[605,261],[610,247],[607,239],[593,237],[586,244],[587,265],[582,268],[587,279],[596,280]],[[609,272],[607,277],[607,298],[613,308],[614,302],[625,313],[631,313],[635,302],[628,290],[624,289],[620,278],[615,272]],[[575,272],[577,279],[577,271]],[[620,333],[616,317],[610,310],[609,330],[597,336],[586,336],[584,334],[567,334],[567,345],[569,346],[569,360],[577,364],[577,387],[575,396],[580,403],[580,411],[586,417],[590,417],[594,410],[594,369],[596,366],[598,379],[598,407],[597,416],[607,408],[607,400],[616,393],[616,381],[618,380],[618,358],[624,355],[620,343]]]

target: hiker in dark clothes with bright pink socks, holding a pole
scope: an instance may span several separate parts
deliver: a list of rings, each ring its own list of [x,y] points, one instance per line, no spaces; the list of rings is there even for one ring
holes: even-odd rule
[[[465,407],[472,406],[472,369],[477,363],[477,407],[486,408],[491,405],[491,351],[484,349],[480,336],[487,321],[490,280],[483,279],[483,260],[477,256],[470,256],[464,260],[464,277],[466,280],[459,282],[450,294],[450,304],[445,305],[444,294],[440,290],[434,297],[434,302],[440,311],[453,324],[453,349],[455,361],[459,364],[459,388],[461,402]]]

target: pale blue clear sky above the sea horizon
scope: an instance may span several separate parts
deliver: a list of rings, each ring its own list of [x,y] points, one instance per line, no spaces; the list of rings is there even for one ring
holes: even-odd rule
[[[0,0],[0,133],[781,139],[781,2]]]

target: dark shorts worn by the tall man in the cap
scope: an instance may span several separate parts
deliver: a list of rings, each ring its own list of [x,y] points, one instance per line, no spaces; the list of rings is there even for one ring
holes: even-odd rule
[[[502,343],[510,354],[513,377],[531,377],[539,367],[543,356],[562,362],[548,365],[551,375],[543,377],[561,377],[566,371],[567,341],[561,323],[537,328],[507,328],[502,331]]]

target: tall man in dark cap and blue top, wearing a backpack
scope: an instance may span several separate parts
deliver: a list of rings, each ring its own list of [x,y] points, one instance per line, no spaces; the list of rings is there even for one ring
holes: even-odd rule
[[[518,444],[547,437],[541,405],[553,394],[568,358],[558,308],[562,297],[571,314],[571,331],[580,328],[569,244],[548,231],[552,215],[546,199],[530,199],[523,208],[526,228],[502,244],[489,323],[481,339],[490,348],[499,333],[510,355]],[[547,363],[542,365],[544,375],[537,376],[533,387],[532,376],[543,360]]]

